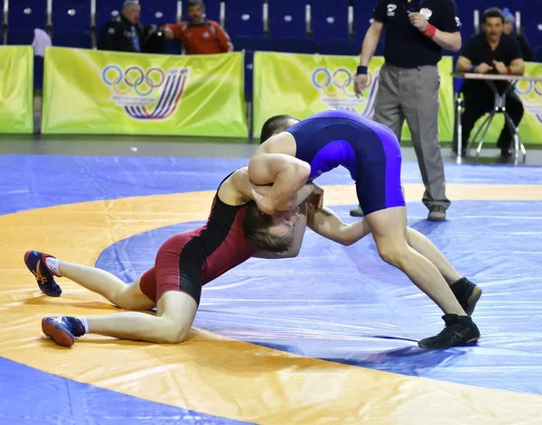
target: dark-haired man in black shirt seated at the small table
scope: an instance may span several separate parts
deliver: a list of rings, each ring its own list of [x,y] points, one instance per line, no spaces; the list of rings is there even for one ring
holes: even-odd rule
[[[523,75],[525,62],[521,56],[519,42],[503,33],[504,14],[500,9],[491,7],[482,15],[483,32],[472,36],[463,46],[457,59],[458,72],[475,72],[478,74]],[[503,93],[509,87],[506,81],[495,81],[495,87]],[[476,121],[494,106],[495,95],[490,86],[481,80],[467,79],[463,85],[464,111],[461,118],[463,125],[464,154],[469,136]],[[518,95],[510,90],[506,97],[506,111],[518,126],[523,116],[523,105]],[[500,132],[497,146],[500,156],[511,156],[510,144],[512,134],[505,123]]]

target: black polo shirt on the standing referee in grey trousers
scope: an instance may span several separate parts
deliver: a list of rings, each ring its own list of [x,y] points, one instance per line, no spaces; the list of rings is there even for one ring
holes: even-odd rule
[[[375,21],[386,25],[384,58],[401,68],[436,65],[443,50],[410,23],[408,12],[418,12],[443,32],[459,32],[453,0],[378,0]]]

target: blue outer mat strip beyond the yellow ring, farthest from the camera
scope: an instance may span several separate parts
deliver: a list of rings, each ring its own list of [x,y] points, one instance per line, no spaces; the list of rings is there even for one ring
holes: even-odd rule
[[[99,199],[215,190],[247,159],[0,155],[0,214]],[[448,183],[542,184],[542,167],[445,164]],[[403,183],[421,183],[417,163],[405,162]],[[338,168],[319,184],[349,184]]]

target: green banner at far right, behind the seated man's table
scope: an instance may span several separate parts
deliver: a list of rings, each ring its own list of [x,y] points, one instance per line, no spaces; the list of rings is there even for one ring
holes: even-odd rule
[[[526,77],[542,77],[542,63],[526,62]],[[519,136],[523,143],[542,143],[542,82],[519,81],[516,84],[516,93],[523,102],[525,113],[519,123]],[[486,115],[487,116],[487,115]],[[483,117],[474,125],[471,137],[481,125]],[[504,115],[496,114],[491,123],[485,140],[496,142],[504,126]],[[480,139],[480,134],[478,135]]]

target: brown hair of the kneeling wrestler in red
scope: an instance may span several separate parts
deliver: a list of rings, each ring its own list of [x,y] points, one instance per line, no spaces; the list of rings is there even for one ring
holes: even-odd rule
[[[257,209],[256,202],[248,205],[243,217],[243,231],[249,246],[259,251],[284,253],[290,248],[294,236],[272,236],[267,231],[273,225],[273,217]]]

